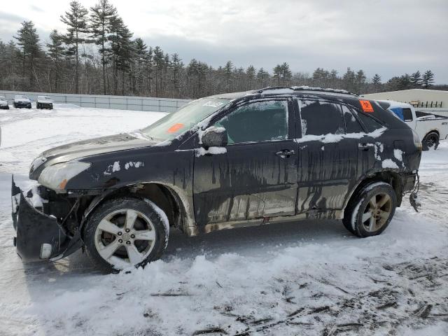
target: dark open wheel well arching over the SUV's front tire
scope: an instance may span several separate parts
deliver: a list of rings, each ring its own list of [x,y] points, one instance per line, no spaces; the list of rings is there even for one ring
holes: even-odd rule
[[[167,214],[169,225],[182,230],[183,214],[185,213],[179,197],[169,187],[158,183],[145,183],[134,186],[125,186],[103,195],[101,199],[93,199],[85,210],[87,214],[84,220],[90,216],[92,211],[107,200],[123,196],[137,196],[147,198],[155,203],[165,214]]]

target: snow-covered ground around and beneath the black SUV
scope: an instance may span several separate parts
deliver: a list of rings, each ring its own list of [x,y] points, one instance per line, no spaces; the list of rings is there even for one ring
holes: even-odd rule
[[[162,260],[101,275],[82,253],[24,265],[10,174],[69,141],[134,130],[163,113],[0,111],[0,335],[448,335],[448,144],[423,154],[421,202],[379,237],[301,222],[171,232]]]

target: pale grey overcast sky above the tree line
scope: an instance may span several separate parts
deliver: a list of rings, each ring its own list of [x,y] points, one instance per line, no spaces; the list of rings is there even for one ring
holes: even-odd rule
[[[85,7],[96,0],[80,0]],[[448,83],[448,0],[111,0],[125,24],[148,45],[213,66],[339,74],[364,69],[383,80],[431,69]],[[64,31],[69,0],[2,0],[0,38],[9,41],[32,20],[42,41]]]

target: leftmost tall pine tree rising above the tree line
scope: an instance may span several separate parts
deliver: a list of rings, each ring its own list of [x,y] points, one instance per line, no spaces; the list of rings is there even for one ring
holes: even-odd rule
[[[33,89],[36,70],[36,59],[41,55],[40,38],[37,34],[34,23],[31,21],[22,22],[22,27],[18,30],[18,36],[14,36],[18,41],[22,55],[22,77],[26,72],[29,74],[29,90]]]

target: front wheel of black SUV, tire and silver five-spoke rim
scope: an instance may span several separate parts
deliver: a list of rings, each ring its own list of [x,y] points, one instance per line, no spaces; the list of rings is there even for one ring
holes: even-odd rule
[[[134,218],[130,222],[134,224],[129,226],[127,218]],[[132,197],[108,200],[94,210],[85,225],[85,250],[94,265],[104,272],[144,267],[165,251],[168,225],[165,213],[149,200]]]

